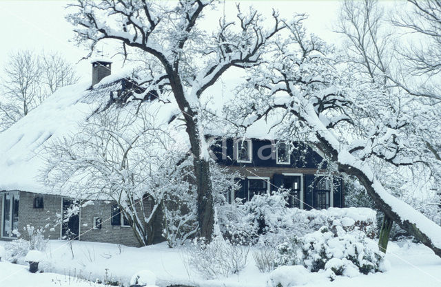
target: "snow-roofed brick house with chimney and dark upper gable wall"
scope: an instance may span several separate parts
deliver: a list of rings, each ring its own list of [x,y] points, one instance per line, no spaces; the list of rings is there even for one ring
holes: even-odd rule
[[[49,226],[45,235],[52,239],[70,235],[83,241],[139,246],[115,202],[105,198],[84,204],[79,213],[63,218],[63,224],[52,227],[63,216],[63,211],[69,209],[72,198],[57,194],[39,180],[45,164],[41,156],[45,142],[74,134],[80,122],[127,96],[125,91],[136,89],[125,76],[110,75],[110,65],[111,62],[104,59],[92,61],[92,87],[84,83],[59,89],[0,134],[1,240],[16,238],[30,225]],[[178,114],[174,103],[160,102],[155,94],[149,93],[143,100],[166,122],[170,123]],[[185,138],[185,131],[183,133]],[[212,145],[212,155],[217,162],[240,173],[241,189],[232,191],[230,199],[249,200],[254,194],[285,187],[291,189],[289,203],[293,207],[322,209],[343,205],[341,182],[331,184],[329,180],[316,179],[322,158],[311,148],[296,142],[292,146],[307,153],[300,156],[291,152],[285,142],[262,132],[260,125],[250,127],[245,137],[245,140],[215,140]],[[151,212],[152,202],[148,198],[143,198],[142,204],[146,213]],[[161,222],[158,220],[157,224]],[[155,237],[161,240],[160,234]]]

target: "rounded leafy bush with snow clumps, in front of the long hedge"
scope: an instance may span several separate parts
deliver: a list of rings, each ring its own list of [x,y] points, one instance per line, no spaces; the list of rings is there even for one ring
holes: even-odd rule
[[[378,244],[358,228],[346,231],[341,222],[332,228],[296,237],[280,244],[278,265],[302,264],[311,272],[332,270],[335,275],[354,276],[382,270],[384,254]]]

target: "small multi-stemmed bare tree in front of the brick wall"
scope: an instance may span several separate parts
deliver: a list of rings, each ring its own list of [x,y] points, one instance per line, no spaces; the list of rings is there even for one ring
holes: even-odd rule
[[[73,136],[45,149],[44,183],[57,194],[80,202],[114,200],[141,246],[152,244],[161,228],[156,223],[162,220],[164,202],[176,195],[185,202],[185,194],[192,189],[185,181],[191,159],[170,136],[170,129],[176,127],[161,120],[166,117],[158,117],[161,107],[158,102],[139,108],[112,105],[92,115]],[[197,229],[196,218],[191,217],[194,213],[189,213],[185,222],[166,213],[169,222],[178,220],[175,241],[184,241],[186,232]]]

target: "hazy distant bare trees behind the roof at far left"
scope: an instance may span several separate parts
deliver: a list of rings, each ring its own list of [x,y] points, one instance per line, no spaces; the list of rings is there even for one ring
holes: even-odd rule
[[[7,129],[59,87],[76,83],[74,67],[60,54],[19,50],[3,68],[0,97],[0,131]]]

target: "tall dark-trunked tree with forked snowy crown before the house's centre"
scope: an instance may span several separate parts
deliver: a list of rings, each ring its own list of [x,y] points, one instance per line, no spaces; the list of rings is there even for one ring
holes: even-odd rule
[[[213,187],[207,143],[198,119],[199,99],[230,67],[259,65],[267,41],[283,28],[276,12],[274,25],[265,29],[258,12],[243,12],[238,6],[234,21],[221,19],[218,28],[209,31],[201,19],[214,3],[79,0],[70,5],[74,12],[68,16],[77,40],[88,43],[91,50],[100,41],[114,40],[121,43],[125,56],[133,50],[150,56],[146,71],[159,70],[145,79],[144,87],[146,92],[158,92],[160,98],[163,92],[171,92],[183,114],[194,156],[198,222],[201,236],[207,240],[214,225]]]

